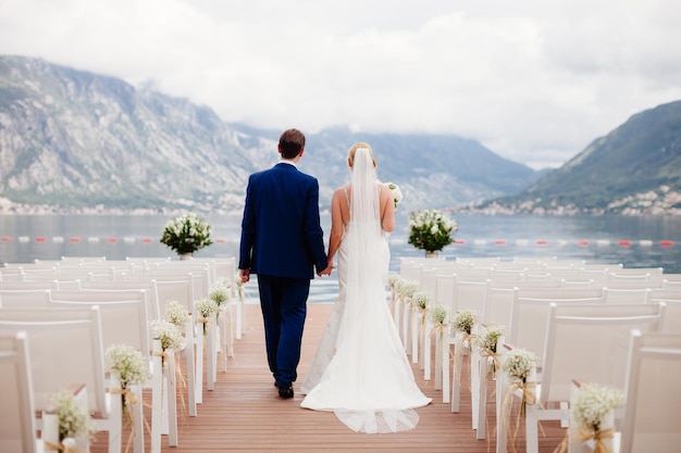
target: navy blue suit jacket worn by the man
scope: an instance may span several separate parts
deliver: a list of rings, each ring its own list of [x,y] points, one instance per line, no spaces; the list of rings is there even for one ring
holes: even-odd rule
[[[326,267],[315,178],[284,162],[250,175],[238,267],[310,279]]]

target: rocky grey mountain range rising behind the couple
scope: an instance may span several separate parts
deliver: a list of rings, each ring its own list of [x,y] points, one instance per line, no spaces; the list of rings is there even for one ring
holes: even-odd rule
[[[286,125],[285,127],[288,127]],[[248,175],[278,160],[281,130],[226,123],[151,87],[0,56],[0,212],[240,211]],[[404,209],[517,192],[537,173],[456,136],[307,134],[300,168],[321,202],[348,180],[347,149],[367,141]]]

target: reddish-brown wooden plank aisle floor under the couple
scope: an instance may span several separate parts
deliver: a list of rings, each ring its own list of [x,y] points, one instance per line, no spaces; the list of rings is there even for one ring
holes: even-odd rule
[[[309,304],[302,355],[298,368],[300,383],[315,351],[332,304]],[[429,453],[486,453],[495,451],[494,394],[488,391],[487,423],[491,433],[476,440],[471,428],[470,392],[462,392],[461,412],[453,414],[450,405],[442,402],[442,391],[434,390],[434,381],[423,380],[419,365],[412,364],[422,391],[433,402],[417,410],[420,421],[416,429],[389,435],[357,433],[348,429],[333,413],[301,408],[302,395],[293,400],[278,398],[273,387],[264,352],[264,334],[260,307],[246,305],[246,323],[240,340],[235,340],[235,356],[227,361],[227,372],[218,373],[213,391],[203,392],[203,403],[198,416],[189,417],[186,411],[178,420],[179,444],[171,448],[168,437],[162,438],[162,452],[429,452]],[[219,361],[222,361],[222,356]],[[219,362],[220,363],[220,362]],[[468,369],[462,368],[461,382],[468,382]],[[466,387],[467,383],[463,383]],[[206,388],[206,387],[205,387]],[[298,390],[298,386],[295,387]],[[185,397],[186,398],[186,397]],[[150,402],[150,394],[145,392]],[[178,403],[178,410],[182,405]],[[149,408],[145,410],[150,421]],[[557,424],[543,423],[544,436],[540,438],[540,452],[550,453],[560,443],[565,431]],[[517,435],[515,449],[523,452],[523,428]],[[127,439],[127,432],[124,436]],[[92,453],[106,453],[107,435],[97,435]],[[149,437],[146,436],[147,452]],[[131,449],[132,451],[132,449]]]

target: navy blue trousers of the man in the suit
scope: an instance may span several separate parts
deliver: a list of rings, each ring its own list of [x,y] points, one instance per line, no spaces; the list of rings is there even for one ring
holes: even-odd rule
[[[310,279],[259,274],[258,290],[268,364],[276,385],[287,388],[297,378]]]

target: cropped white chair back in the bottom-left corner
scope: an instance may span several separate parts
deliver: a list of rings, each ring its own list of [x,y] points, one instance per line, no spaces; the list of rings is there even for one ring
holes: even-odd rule
[[[0,451],[41,452],[25,331],[0,335]]]

